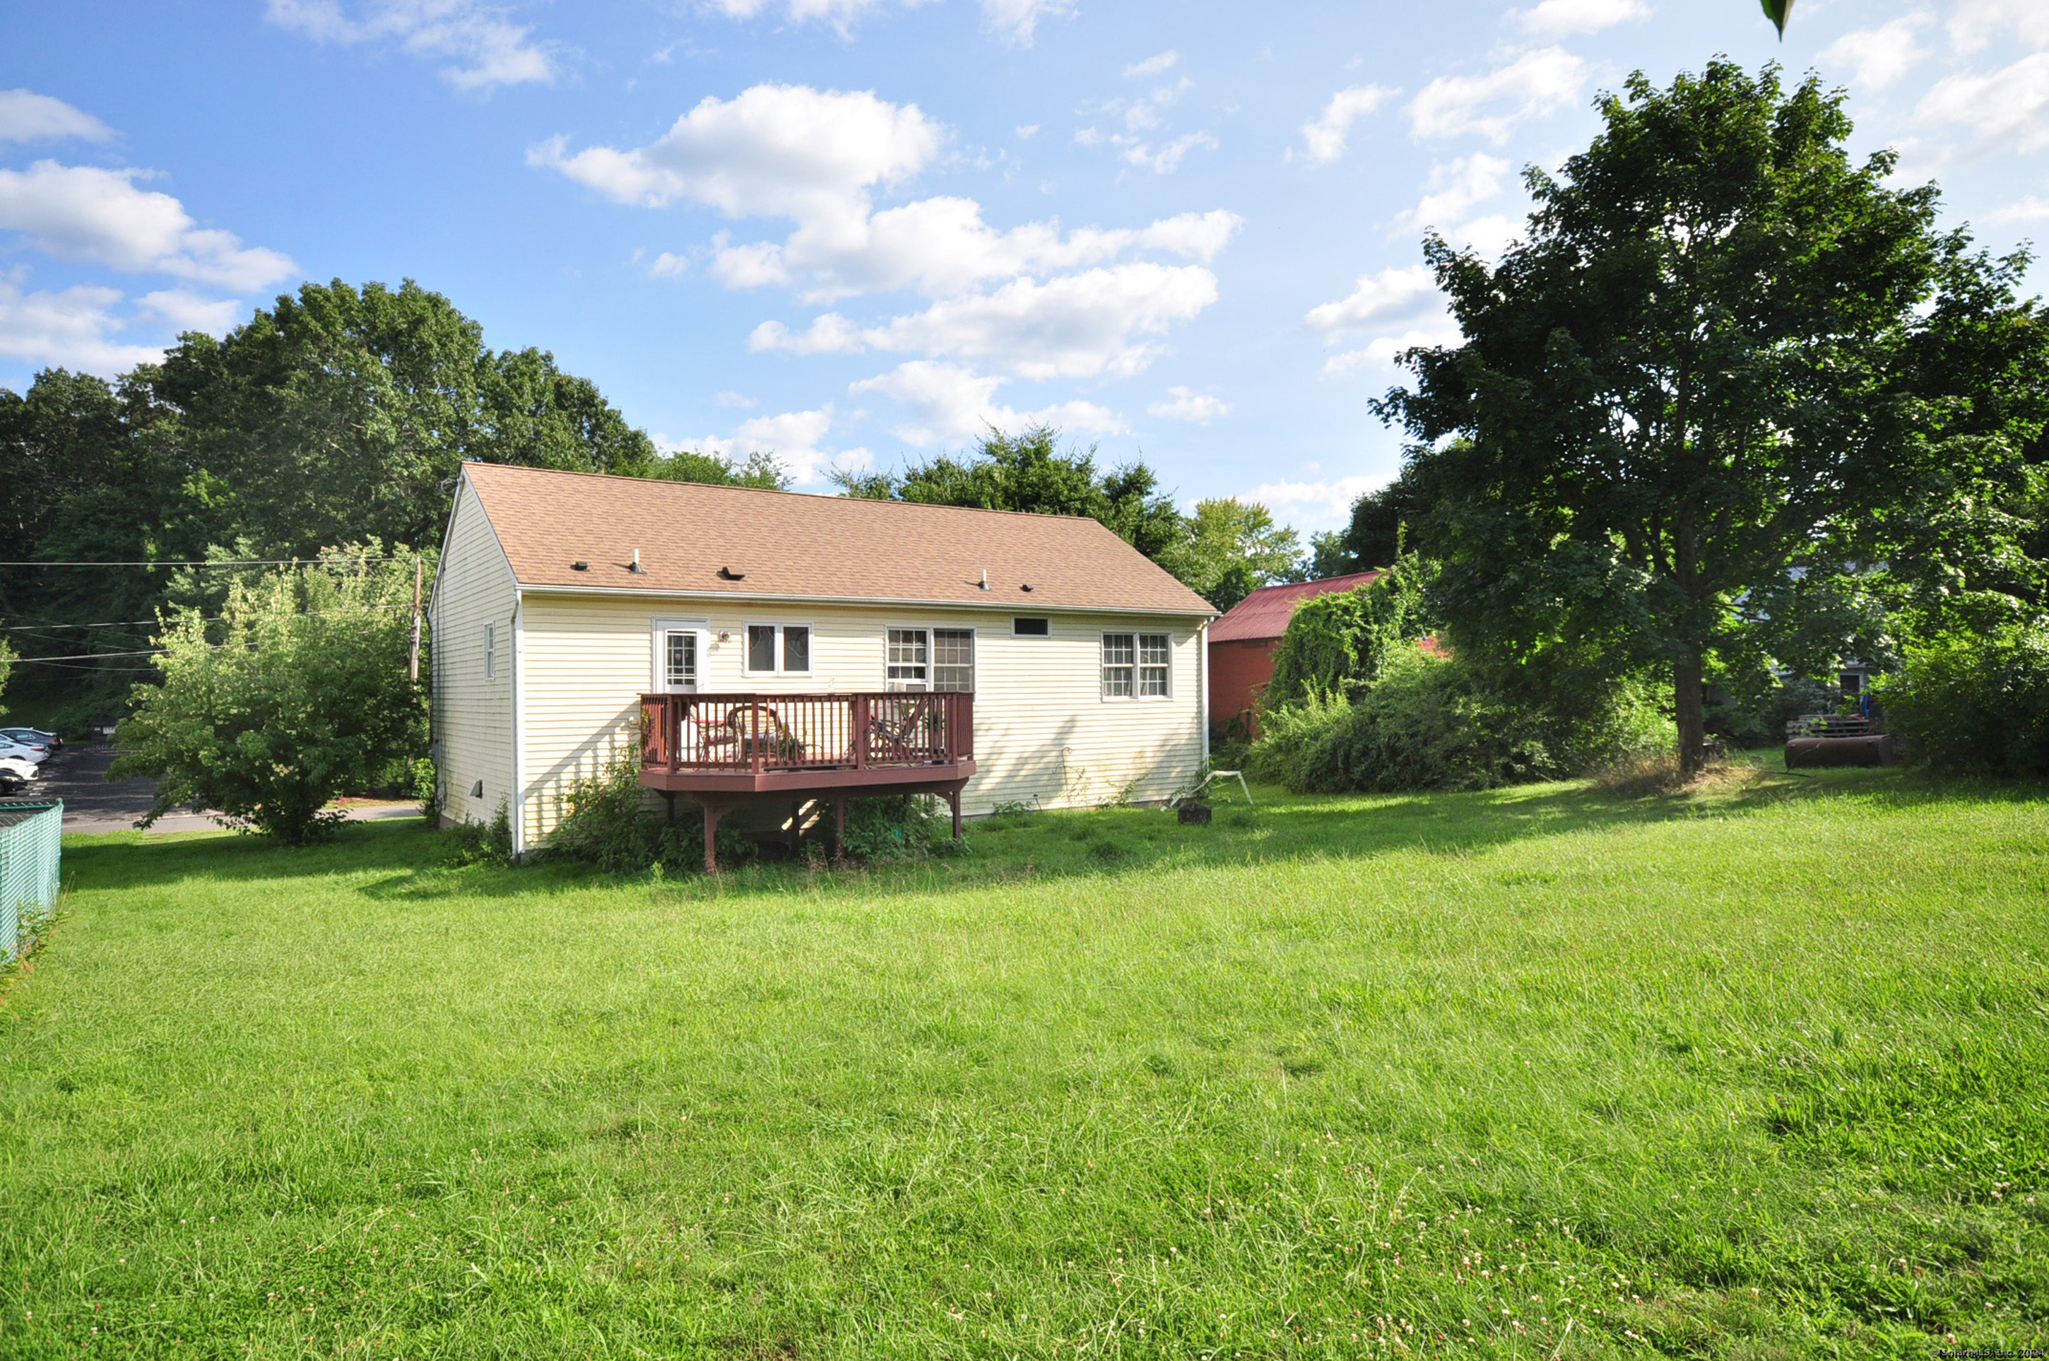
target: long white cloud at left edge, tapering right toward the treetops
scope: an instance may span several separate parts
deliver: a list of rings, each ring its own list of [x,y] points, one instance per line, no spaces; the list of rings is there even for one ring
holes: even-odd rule
[[[139,174],[53,160],[0,170],[0,230],[27,232],[39,250],[61,260],[156,271],[227,289],[260,289],[299,273],[277,250],[199,228],[170,195],[137,189]]]

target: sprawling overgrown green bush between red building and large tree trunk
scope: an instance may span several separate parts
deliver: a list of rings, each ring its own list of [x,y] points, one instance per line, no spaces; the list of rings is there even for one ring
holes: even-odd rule
[[[1252,744],[1260,779],[1297,793],[1492,789],[1561,779],[1670,746],[1649,693],[1617,685],[1602,705],[1545,713],[1453,658],[1402,648],[1358,695],[1274,709]]]

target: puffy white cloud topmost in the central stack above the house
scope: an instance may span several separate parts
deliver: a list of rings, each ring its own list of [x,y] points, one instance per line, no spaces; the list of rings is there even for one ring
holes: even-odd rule
[[[570,156],[568,139],[553,137],[529,148],[527,162],[619,203],[691,199],[729,217],[824,228],[865,217],[875,187],[916,174],[943,141],[945,129],[916,105],[867,90],[758,84],[731,100],[705,96],[643,148],[594,146]]]

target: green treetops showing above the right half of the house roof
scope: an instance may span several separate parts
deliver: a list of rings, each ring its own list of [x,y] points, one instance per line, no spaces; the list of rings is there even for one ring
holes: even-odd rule
[[[846,496],[916,500],[928,506],[979,506],[1086,514],[1152,560],[1182,539],[1182,517],[1143,463],[1096,471],[1096,451],[1059,449],[1059,430],[990,430],[967,457],[938,455],[902,473],[834,473]]]

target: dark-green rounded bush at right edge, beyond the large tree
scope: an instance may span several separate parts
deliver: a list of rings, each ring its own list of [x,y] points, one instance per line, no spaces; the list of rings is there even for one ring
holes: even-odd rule
[[[2049,623],[1908,648],[1877,699],[1908,760],[1940,775],[2049,777]]]

